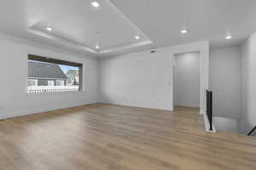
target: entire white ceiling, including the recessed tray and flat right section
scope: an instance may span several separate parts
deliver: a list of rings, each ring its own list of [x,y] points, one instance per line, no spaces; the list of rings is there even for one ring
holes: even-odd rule
[[[255,0],[93,1],[0,0],[0,31],[95,56],[204,40],[223,47],[256,31]]]

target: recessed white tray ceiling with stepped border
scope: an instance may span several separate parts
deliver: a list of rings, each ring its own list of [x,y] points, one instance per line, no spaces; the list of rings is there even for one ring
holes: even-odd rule
[[[58,10],[53,10],[55,7]],[[26,9],[28,33],[91,54],[109,54],[153,43],[108,0],[28,0]]]

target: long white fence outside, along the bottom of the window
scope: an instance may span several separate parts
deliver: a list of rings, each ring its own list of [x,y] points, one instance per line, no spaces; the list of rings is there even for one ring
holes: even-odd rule
[[[79,86],[28,86],[28,94],[44,94],[55,92],[77,92]]]

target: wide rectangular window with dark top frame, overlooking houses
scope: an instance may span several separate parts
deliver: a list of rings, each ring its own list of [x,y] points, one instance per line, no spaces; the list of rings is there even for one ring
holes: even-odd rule
[[[57,93],[82,90],[83,65],[28,55],[27,93]]]

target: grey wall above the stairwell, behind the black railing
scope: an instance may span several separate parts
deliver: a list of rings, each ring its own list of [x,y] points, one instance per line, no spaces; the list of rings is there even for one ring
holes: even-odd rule
[[[238,119],[241,114],[240,47],[210,49],[213,116]]]

